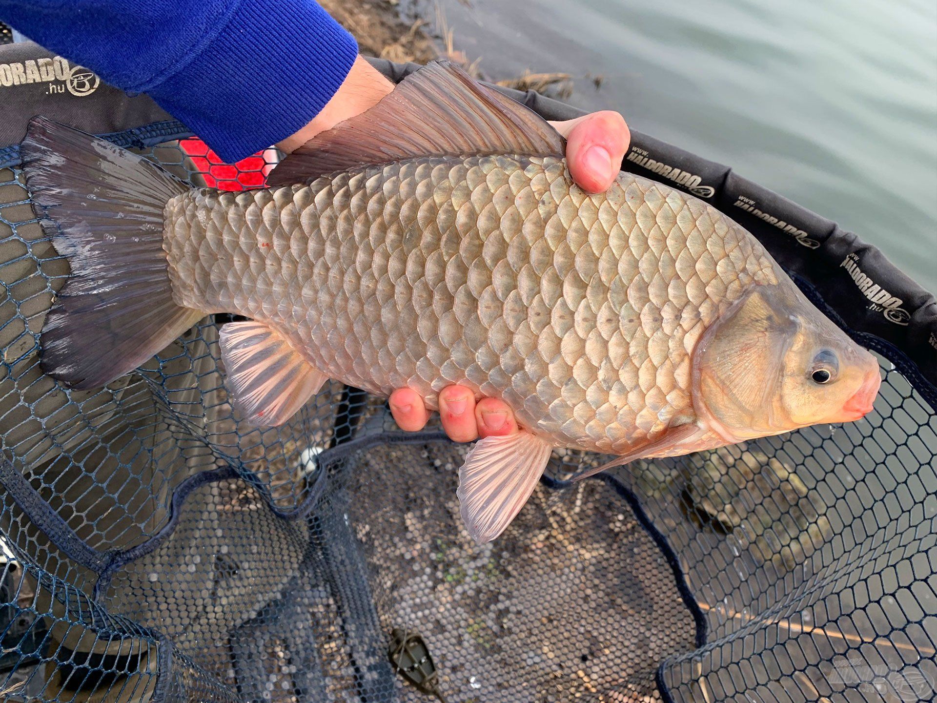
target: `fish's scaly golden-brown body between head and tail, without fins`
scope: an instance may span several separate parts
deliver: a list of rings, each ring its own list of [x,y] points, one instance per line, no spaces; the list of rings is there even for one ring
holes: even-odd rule
[[[779,272],[714,208],[562,159],[416,158],[167,205],[176,302],[271,323],[313,366],[436,407],[501,397],[557,445],[621,453],[692,422],[706,326]]]

